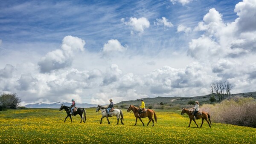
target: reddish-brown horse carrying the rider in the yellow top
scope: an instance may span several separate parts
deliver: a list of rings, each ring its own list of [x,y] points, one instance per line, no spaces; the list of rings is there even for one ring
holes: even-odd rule
[[[154,112],[154,110],[152,110],[152,109],[147,109],[147,111],[146,111],[145,113],[142,112],[141,115],[140,115],[140,117],[139,117],[139,116],[138,116],[138,114],[139,114],[138,109],[139,109],[139,108],[134,107],[133,105],[130,105],[130,107],[127,109],[127,112],[129,112],[129,111],[131,111],[131,110],[134,112],[134,116],[135,116],[135,118],[136,118],[136,121],[135,121],[134,126],[136,126],[138,118],[139,118],[140,121],[142,122],[141,118],[146,118],[146,117],[148,117],[148,119],[149,119],[148,124],[150,123],[150,121],[152,121],[152,122],[153,122],[153,126],[154,126],[154,119],[155,119],[155,121],[157,122],[157,115],[156,115],[156,113]],[[154,119],[153,119],[153,115],[154,115]],[[142,122],[142,124],[143,124],[143,126],[144,126],[144,123],[143,123],[143,122]],[[153,126],[152,126],[152,127],[153,127]]]

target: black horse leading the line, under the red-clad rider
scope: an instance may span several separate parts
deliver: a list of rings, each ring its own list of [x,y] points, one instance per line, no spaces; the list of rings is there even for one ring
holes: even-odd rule
[[[70,107],[67,107],[67,106],[61,104],[61,108],[60,108],[59,110],[61,111],[62,109],[65,109],[65,111],[67,112],[67,117],[70,117],[70,120],[71,120],[71,122],[72,122],[72,118],[71,118],[71,114],[70,114]],[[84,113],[84,117],[83,117],[83,113]],[[85,111],[84,108],[79,107],[79,108],[77,108],[77,111],[76,111],[76,112],[74,112],[74,110],[73,110],[73,114],[74,114],[74,116],[76,116],[77,114],[79,114],[79,115],[81,116],[81,121],[80,121],[80,123],[82,122],[82,120],[83,120],[83,122],[85,123],[85,121],[86,121],[86,111]],[[66,121],[67,117],[65,118],[65,121]],[[65,122],[65,121],[64,121],[64,122]]]

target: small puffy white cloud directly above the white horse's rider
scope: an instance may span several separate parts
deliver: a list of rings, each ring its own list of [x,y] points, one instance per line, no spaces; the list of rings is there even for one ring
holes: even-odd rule
[[[112,52],[123,52],[126,48],[121,45],[118,40],[108,40],[108,43],[104,44],[102,48],[102,52],[104,54],[111,54]]]

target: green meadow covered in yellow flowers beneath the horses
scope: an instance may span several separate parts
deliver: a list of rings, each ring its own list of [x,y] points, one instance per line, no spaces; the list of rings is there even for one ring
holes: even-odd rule
[[[143,118],[145,126],[138,120],[135,124],[134,114],[122,109],[124,125],[116,125],[116,117],[102,120],[101,112],[95,108],[86,109],[86,123],[80,123],[80,116],[73,116],[64,123],[66,112],[58,109],[18,109],[0,111],[1,144],[169,144],[169,143],[207,143],[207,144],[255,144],[256,129],[229,124],[212,123],[209,128],[204,121],[202,128],[194,122],[191,127],[189,118],[180,115],[181,110],[155,110],[157,123],[147,127],[148,118]],[[201,119],[197,120],[198,125]]]

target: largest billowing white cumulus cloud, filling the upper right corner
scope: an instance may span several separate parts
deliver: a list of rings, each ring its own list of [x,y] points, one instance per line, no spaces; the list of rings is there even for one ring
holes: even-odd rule
[[[194,29],[205,33],[189,43],[188,55],[207,60],[215,57],[236,58],[255,52],[256,20],[253,16],[256,14],[255,8],[256,2],[253,0],[239,2],[235,9],[239,17],[231,23],[224,23],[222,14],[216,9],[210,9],[203,21]]]

